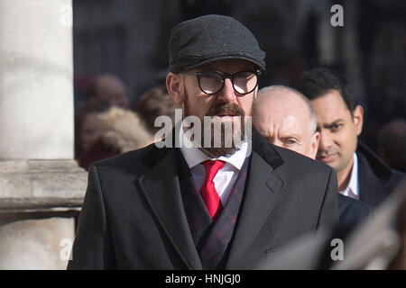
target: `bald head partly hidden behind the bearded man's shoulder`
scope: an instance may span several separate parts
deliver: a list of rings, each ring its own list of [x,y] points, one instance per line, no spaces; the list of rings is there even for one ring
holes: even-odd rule
[[[309,100],[291,87],[273,85],[258,92],[254,125],[272,144],[315,158],[319,133]]]

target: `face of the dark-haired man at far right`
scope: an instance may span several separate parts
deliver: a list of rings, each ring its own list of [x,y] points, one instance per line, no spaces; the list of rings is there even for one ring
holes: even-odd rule
[[[337,174],[351,171],[357,137],[363,127],[363,109],[356,106],[353,116],[337,90],[311,101],[320,141],[318,161],[336,169]]]

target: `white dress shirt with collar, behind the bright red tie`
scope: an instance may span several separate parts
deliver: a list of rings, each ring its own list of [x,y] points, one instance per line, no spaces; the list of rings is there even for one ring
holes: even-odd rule
[[[206,175],[205,166],[201,163],[206,160],[225,161],[225,165],[218,170],[213,182],[223,206],[226,205],[228,197],[231,193],[231,189],[233,188],[235,180],[244,164],[245,157],[247,157],[248,142],[243,142],[241,148],[230,157],[222,156],[218,158],[211,158],[192,144],[182,127],[180,127],[179,137],[179,143],[181,143],[180,151],[185,158],[186,163],[188,163],[198,191],[200,191],[200,187],[203,184]]]

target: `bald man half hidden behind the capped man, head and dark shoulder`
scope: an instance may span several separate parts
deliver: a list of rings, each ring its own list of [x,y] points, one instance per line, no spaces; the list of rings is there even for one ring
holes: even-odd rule
[[[312,159],[318,151],[316,117],[309,100],[299,91],[282,85],[264,87],[254,103],[254,125],[273,145],[288,148]],[[371,214],[371,208],[340,193],[338,209],[343,238]]]

